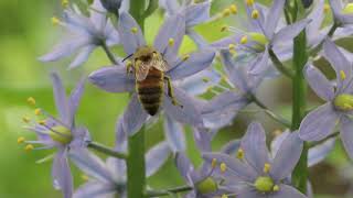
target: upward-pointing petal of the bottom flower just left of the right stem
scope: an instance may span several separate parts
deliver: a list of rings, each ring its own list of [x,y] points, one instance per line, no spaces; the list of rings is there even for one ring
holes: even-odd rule
[[[266,134],[263,125],[253,122],[242,139],[240,147],[244,150],[246,162],[260,175],[264,173],[265,163],[269,163],[266,146]]]

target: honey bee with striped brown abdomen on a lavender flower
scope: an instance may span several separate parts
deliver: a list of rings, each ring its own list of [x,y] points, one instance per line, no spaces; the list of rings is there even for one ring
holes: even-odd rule
[[[135,74],[138,99],[150,116],[158,112],[163,101],[164,81],[172,103],[179,105],[174,98],[170,77],[164,75],[167,70],[168,63],[158,51],[150,46],[138,48],[131,55],[130,64],[127,65],[127,72]]]

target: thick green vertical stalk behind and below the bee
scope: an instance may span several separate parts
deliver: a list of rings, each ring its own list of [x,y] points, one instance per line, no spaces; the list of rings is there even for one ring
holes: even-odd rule
[[[145,31],[146,0],[130,0],[130,14]],[[145,162],[145,127],[135,135],[128,138],[127,188],[128,198],[145,198],[146,162]]]

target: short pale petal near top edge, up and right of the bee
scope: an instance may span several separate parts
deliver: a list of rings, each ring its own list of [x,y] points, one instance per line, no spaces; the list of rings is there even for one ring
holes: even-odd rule
[[[205,1],[186,7],[186,26],[194,26],[210,19],[211,2]]]

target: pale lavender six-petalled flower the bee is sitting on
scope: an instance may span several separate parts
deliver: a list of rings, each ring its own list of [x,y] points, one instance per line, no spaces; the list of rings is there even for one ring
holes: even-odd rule
[[[121,13],[119,18],[119,33],[126,54],[133,54],[139,47],[146,46],[146,41],[139,25],[128,13]],[[184,57],[178,57],[178,51],[185,33],[185,19],[182,14],[175,14],[167,19],[154,41],[154,48],[168,63],[164,73],[171,80],[181,80],[207,68],[215,56],[210,50],[192,53]],[[110,92],[132,92],[130,103],[121,117],[122,130],[128,134],[136,133],[146,122],[148,113],[142,109],[136,94],[136,79],[127,74],[125,66],[104,67],[94,72],[90,81],[104,90]],[[202,127],[200,110],[194,99],[180,88],[173,87],[174,96],[181,106],[173,105],[171,98],[164,92],[164,101],[161,107],[168,117],[195,127]]]

